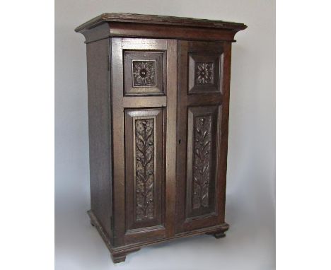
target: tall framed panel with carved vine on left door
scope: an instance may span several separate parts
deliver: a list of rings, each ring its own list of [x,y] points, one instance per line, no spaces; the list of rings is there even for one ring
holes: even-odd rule
[[[127,235],[163,224],[163,110],[125,110]]]

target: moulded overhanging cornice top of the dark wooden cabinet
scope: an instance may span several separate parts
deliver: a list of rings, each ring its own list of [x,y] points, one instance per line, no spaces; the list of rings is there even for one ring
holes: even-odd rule
[[[243,23],[134,13],[103,13],[75,29],[93,42],[105,37],[158,37],[234,41]],[[204,33],[202,33],[202,31]]]

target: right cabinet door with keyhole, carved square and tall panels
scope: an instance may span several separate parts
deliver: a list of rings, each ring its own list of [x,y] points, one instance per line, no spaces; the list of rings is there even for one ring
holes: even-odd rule
[[[178,41],[176,233],[224,223],[231,43]]]

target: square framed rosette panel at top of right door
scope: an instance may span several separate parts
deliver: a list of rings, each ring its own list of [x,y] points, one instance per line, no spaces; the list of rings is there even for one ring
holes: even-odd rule
[[[189,54],[189,94],[221,92],[222,59],[222,54]]]

